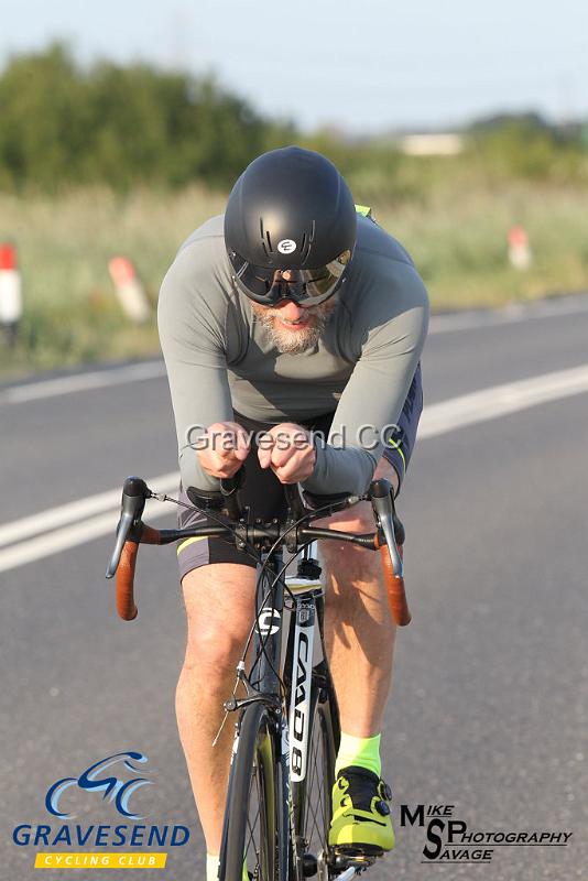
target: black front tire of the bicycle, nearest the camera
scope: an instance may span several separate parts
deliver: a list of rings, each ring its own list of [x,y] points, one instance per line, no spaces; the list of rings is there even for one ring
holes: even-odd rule
[[[231,770],[224,830],[224,881],[243,881],[247,863],[255,881],[275,881],[279,823],[275,749],[265,707],[243,713]]]

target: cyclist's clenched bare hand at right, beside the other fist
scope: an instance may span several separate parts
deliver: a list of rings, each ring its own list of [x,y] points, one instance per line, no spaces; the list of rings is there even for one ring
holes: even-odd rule
[[[260,437],[258,457],[262,468],[271,468],[281,483],[297,483],[314,471],[316,452],[311,432],[293,422],[283,422]]]

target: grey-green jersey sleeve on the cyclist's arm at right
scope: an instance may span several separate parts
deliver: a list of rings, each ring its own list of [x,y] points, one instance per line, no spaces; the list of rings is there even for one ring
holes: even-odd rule
[[[327,444],[317,444],[312,493],[366,492],[398,424],[428,326],[428,298],[412,263],[382,276],[358,315],[361,348],[335,412]]]

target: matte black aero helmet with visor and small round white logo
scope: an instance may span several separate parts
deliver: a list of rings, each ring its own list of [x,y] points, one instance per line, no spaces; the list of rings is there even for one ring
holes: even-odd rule
[[[258,156],[235,184],[225,243],[237,287],[263,305],[314,306],[345,279],[356,243],[349,187],[328,159],[286,146]]]

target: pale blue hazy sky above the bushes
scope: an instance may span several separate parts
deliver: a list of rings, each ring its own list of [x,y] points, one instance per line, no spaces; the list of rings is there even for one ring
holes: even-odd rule
[[[0,65],[55,39],[81,62],[214,73],[306,130],[588,118],[587,0],[0,0]]]

